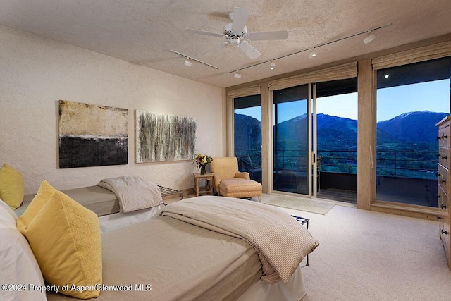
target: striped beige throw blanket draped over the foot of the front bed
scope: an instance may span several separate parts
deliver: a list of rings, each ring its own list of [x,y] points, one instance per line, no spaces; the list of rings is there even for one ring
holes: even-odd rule
[[[302,259],[319,245],[290,214],[244,199],[193,197],[164,207],[159,215],[246,240],[259,254],[261,280],[271,284],[287,282]]]

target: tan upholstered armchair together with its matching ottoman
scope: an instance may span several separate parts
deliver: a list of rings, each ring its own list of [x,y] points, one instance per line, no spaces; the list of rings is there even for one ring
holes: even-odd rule
[[[223,197],[259,197],[261,202],[261,184],[250,180],[249,173],[238,171],[235,156],[217,157],[211,161],[214,173],[214,188]]]

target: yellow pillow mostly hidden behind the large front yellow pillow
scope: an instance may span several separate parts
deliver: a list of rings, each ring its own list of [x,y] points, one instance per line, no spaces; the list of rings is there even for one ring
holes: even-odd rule
[[[27,232],[27,226],[35,218],[35,216],[41,211],[42,207],[49,201],[52,195],[56,192],[56,189],[50,185],[47,180],[43,180],[37,190],[37,195],[32,199],[32,202],[28,205],[25,212],[17,219],[16,226],[18,231],[25,235]]]

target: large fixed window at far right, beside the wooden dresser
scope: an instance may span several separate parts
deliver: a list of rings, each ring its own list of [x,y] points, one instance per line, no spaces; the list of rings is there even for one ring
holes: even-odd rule
[[[376,199],[437,207],[438,129],[451,58],[377,71]]]

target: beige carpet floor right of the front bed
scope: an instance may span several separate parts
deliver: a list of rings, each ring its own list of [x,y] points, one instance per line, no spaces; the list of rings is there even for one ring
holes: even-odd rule
[[[438,222],[339,205],[302,216],[319,240],[310,266],[302,263],[302,301],[451,300]]]

